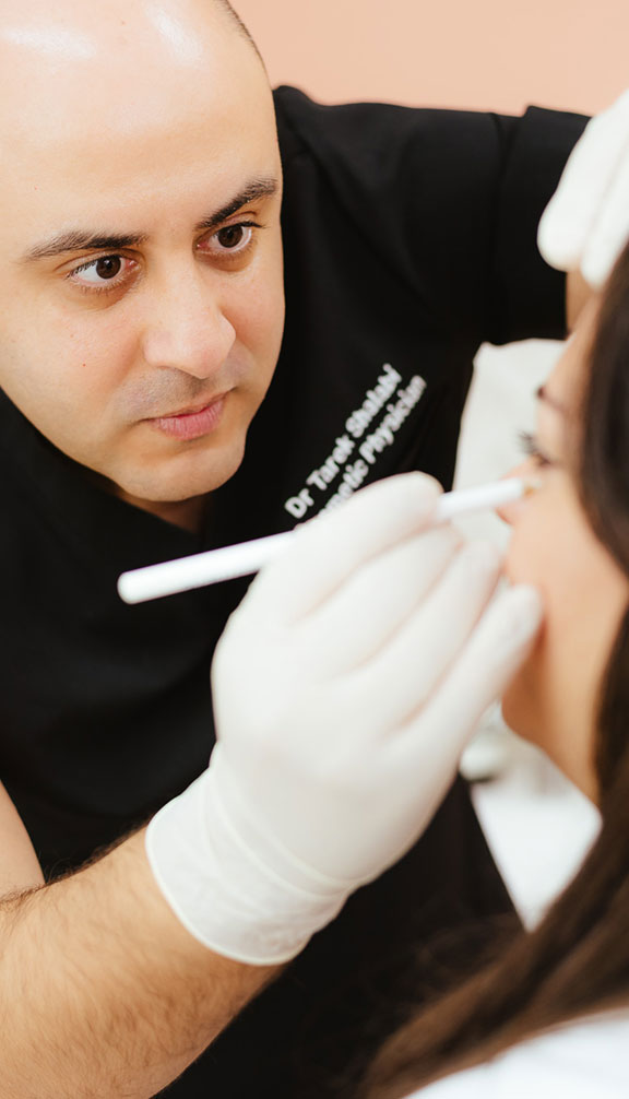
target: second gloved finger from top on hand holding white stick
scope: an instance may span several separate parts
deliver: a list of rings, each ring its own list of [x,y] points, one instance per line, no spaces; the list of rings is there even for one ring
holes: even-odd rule
[[[322,675],[372,658],[426,598],[462,543],[435,526],[368,562],[300,624],[299,644]],[[296,640],[296,639],[295,639]]]

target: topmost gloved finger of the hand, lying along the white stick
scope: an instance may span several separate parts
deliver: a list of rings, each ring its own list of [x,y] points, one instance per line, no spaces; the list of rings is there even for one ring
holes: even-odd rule
[[[281,557],[262,569],[240,604],[296,621],[336,591],[355,569],[425,530],[440,486],[402,474],[361,489],[337,511],[299,528]]]

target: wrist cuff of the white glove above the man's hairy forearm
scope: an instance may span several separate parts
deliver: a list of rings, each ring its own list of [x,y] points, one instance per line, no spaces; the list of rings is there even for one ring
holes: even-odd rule
[[[187,930],[250,965],[293,958],[357,885],[311,869],[266,834],[218,746],[210,768],[153,818],[146,851]]]

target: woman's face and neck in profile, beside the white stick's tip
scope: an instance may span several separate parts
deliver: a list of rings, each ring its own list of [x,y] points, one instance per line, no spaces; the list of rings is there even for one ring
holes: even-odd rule
[[[532,453],[514,470],[540,487],[501,510],[513,529],[506,575],[512,584],[535,585],[546,607],[503,713],[593,800],[598,693],[629,602],[629,581],[592,532],[569,468],[595,317],[592,306],[540,391]]]

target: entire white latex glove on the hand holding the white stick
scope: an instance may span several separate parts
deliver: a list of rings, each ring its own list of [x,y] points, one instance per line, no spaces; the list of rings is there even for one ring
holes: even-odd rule
[[[427,531],[438,495],[408,474],[305,524],[227,624],[210,768],[147,840],[171,907],[218,953],[293,957],[398,859],[529,651],[537,592],[487,610],[498,554]]]

